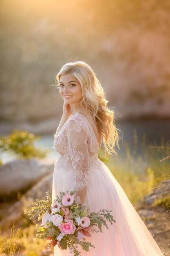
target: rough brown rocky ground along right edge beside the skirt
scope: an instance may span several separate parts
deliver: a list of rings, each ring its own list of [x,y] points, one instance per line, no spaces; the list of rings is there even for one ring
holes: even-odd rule
[[[170,195],[170,180],[155,185],[149,195],[135,204],[135,209],[159,245],[163,255],[170,255],[170,211],[162,205],[152,205],[157,199]]]

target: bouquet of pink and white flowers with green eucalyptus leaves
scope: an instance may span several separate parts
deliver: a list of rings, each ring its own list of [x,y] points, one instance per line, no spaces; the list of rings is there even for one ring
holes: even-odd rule
[[[62,250],[69,248],[73,255],[80,256],[78,244],[86,252],[89,251],[89,247],[95,248],[86,242],[85,236],[91,237],[90,232],[102,232],[102,225],[108,229],[106,220],[111,225],[115,220],[109,213],[111,210],[106,209],[87,215],[88,204],[80,204],[79,196],[74,200],[76,191],[60,192],[53,202],[46,192],[46,200],[36,199],[35,202],[27,204],[24,213],[29,215],[29,219],[33,219],[35,214],[38,215],[38,221],[41,220],[42,223],[36,225],[36,238],[48,239],[48,249],[52,246],[58,246]],[[95,226],[98,226],[99,230],[95,229]]]

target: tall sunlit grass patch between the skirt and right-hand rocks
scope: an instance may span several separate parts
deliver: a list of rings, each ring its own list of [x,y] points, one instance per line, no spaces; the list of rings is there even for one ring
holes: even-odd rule
[[[113,173],[115,179],[124,189],[130,202],[135,204],[146,196],[157,184],[164,179],[170,179],[170,140],[146,141],[143,135],[141,142],[134,131],[133,143],[124,142],[121,154],[114,155],[109,161],[104,161]],[[100,159],[104,153],[100,152]]]

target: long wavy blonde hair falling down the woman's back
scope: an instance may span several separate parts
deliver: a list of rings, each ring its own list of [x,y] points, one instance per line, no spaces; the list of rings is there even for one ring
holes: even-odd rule
[[[112,152],[117,154],[115,145],[119,148],[119,135],[117,132],[119,129],[115,126],[114,111],[107,107],[108,101],[100,81],[92,68],[84,61],[68,62],[56,75],[57,88],[60,88],[60,76],[68,73],[74,75],[81,85],[82,101],[79,105],[84,108],[84,103],[86,110],[92,113],[92,117],[97,123],[98,132],[102,134],[105,156],[106,152],[108,155],[112,155]]]

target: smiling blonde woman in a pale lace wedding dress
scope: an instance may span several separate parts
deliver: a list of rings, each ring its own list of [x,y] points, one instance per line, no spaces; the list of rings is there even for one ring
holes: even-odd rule
[[[89,65],[83,61],[66,63],[57,74],[64,100],[63,115],[54,135],[54,148],[60,154],[54,164],[53,200],[59,191],[77,189],[81,203],[90,212],[111,210],[115,219],[109,229],[86,237],[95,245],[81,256],[163,256],[154,238],[130,203],[124,190],[99,160],[104,143],[108,154],[119,148],[114,112],[107,107],[104,89]],[[73,255],[55,246],[55,256]]]

